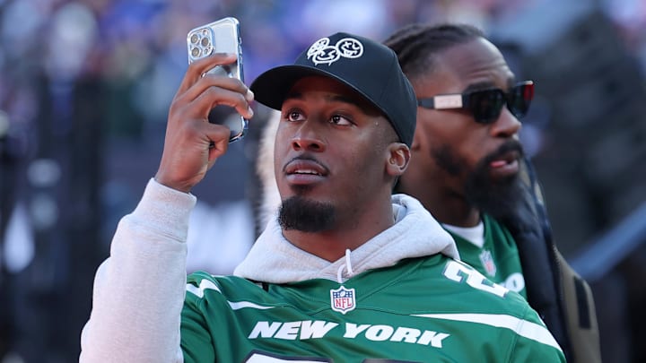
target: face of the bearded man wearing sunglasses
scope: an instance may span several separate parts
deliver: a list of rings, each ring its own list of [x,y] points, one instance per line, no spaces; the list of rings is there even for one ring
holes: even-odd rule
[[[449,48],[437,62],[433,73],[413,82],[420,99],[491,88],[509,91],[516,82],[500,51],[485,39]],[[463,109],[417,108],[406,174],[432,180],[443,193],[462,195],[482,207],[478,204],[487,203],[483,198],[499,200],[517,179],[519,129],[519,120],[506,107],[491,124],[476,123]]]

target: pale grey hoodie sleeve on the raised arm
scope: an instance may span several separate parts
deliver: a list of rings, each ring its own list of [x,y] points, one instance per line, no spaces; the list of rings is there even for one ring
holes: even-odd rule
[[[94,278],[80,362],[182,362],[179,324],[186,289],[188,217],[196,204],[151,179],[118,223]]]

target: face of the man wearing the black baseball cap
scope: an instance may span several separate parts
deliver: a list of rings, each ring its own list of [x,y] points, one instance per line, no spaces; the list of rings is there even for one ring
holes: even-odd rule
[[[352,225],[374,194],[387,190],[388,120],[342,83],[319,76],[296,82],[281,113],[281,225],[304,232]]]

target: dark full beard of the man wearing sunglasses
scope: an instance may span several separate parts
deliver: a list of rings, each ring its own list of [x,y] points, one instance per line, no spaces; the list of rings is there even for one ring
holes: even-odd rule
[[[523,199],[524,192],[519,174],[498,179],[489,174],[491,161],[508,151],[519,151],[520,155],[523,153],[518,142],[502,144],[500,149],[477,163],[465,185],[468,202],[494,219],[502,219],[513,213]],[[521,162],[522,158],[519,158],[519,163]]]

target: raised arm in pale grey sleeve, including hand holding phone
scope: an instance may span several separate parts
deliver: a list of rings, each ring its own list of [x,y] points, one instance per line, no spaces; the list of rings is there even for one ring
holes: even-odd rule
[[[205,74],[235,61],[194,62],[170,105],[160,167],[135,212],[124,217],[109,258],[96,273],[92,314],[83,328],[81,362],[181,362],[180,313],[186,285],[188,194],[226,152],[229,129],[209,124],[211,108],[253,116],[253,94],[239,80]]]

